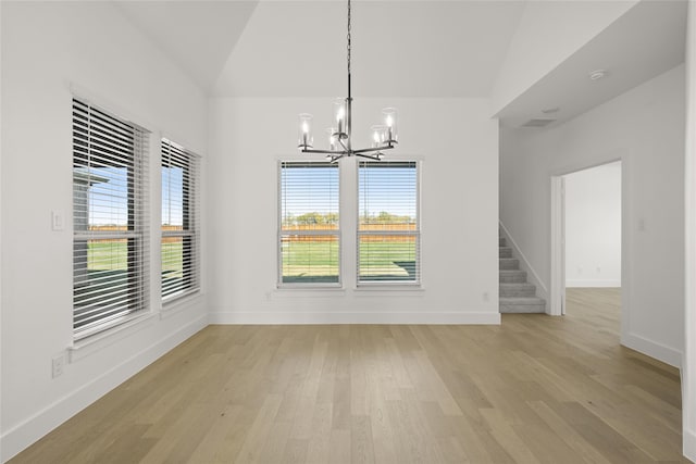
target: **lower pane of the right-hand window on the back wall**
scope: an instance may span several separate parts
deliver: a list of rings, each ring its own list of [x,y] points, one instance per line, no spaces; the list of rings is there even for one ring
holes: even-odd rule
[[[418,276],[418,236],[361,235],[361,281],[414,281]]]

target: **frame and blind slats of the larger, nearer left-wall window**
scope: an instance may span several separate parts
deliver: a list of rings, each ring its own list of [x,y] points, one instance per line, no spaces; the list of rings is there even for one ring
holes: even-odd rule
[[[73,162],[73,340],[80,341],[97,334],[126,324],[150,313],[150,234],[149,234],[149,142],[150,131],[144,127],[117,116],[88,99],[72,98],[72,162]],[[119,140],[119,134],[132,130],[132,146],[128,149]],[[101,141],[99,141],[99,140]],[[121,147],[119,147],[121,145]],[[92,176],[92,168],[114,166],[126,167],[126,223],[125,228],[117,224],[104,227],[90,224],[89,189],[95,183],[111,179]],[[80,173],[78,167],[85,168]],[[114,177],[115,179],[115,177]],[[79,188],[78,188],[79,187]],[[115,188],[115,187],[114,187]],[[103,193],[102,193],[103,196]],[[99,197],[97,197],[99,198]],[[103,201],[102,198],[100,200]],[[83,203],[80,203],[80,201]],[[113,211],[112,211],[113,213]],[[77,226],[79,214],[84,227]],[[96,228],[95,228],[96,227]],[[111,229],[110,229],[111,228]],[[125,278],[114,280],[110,286],[89,283],[90,243],[107,240],[113,243],[125,240]],[[84,246],[82,246],[84,243]],[[113,251],[111,251],[113,253]],[[117,254],[117,253],[116,253]],[[109,254],[113,259],[113,254]],[[87,281],[85,281],[85,278]],[[103,276],[95,278],[104,279]],[[125,283],[125,297],[119,290]],[[96,289],[96,287],[101,287]],[[109,304],[98,301],[99,291],[108,294]],[[103,299],[103,298],[102,298]],[[89,301],[84,306],[78,300]],[[111,306],[117,302],[120,305]],[[125,306],[123,304],[125,303]],[[100,317],[89,321],[84,314],[99,312]],[[87,321],[87,322],[85,322]]]

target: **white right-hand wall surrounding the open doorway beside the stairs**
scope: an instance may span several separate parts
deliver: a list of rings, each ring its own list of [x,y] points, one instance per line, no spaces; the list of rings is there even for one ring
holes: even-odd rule
[[[622,160],[622,343],[672,365],[684,340],[684,86],[681,65],[557,128],[504,130],[500,153],[501,222],[547,285],[550,177]]]

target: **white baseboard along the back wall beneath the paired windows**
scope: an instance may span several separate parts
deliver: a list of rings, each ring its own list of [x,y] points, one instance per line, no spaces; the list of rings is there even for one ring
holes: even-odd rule
[[[499,325],[500,313],[271,313],[215,312],[208,316],[210,324],[484,324]]]

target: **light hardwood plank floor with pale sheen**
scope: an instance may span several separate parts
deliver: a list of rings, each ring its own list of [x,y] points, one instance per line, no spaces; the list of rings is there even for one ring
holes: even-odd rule
[[[649,463],[679,372],[619,346],[617,289],[500,326],[210,326],[12,463]]]

